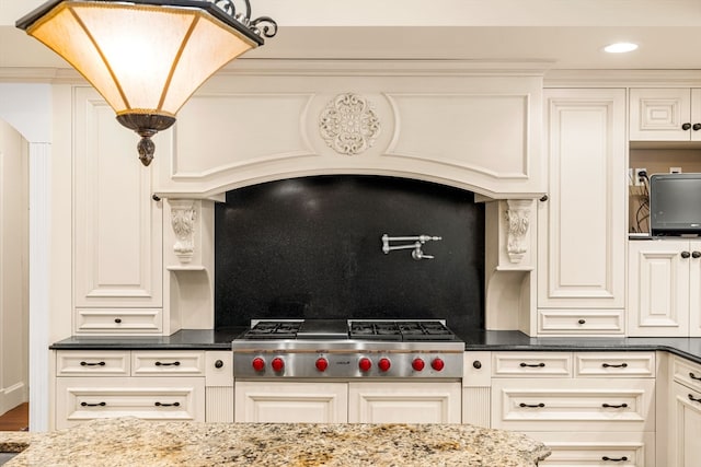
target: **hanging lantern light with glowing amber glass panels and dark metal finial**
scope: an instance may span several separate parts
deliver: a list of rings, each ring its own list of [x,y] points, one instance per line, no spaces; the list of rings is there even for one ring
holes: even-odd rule
[[[150,137],[172,126],[217,70],[277,32],[242,3],[237,12],[233,0],[53,0],[16,26],[76,68],[142,137],[139,159],[148,165]]]

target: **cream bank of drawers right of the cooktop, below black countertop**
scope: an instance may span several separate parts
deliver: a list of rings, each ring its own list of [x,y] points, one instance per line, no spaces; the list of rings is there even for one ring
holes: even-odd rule
[[[542,465],[655,465],[654,352],[493,352],[491,425],[553,452]]]

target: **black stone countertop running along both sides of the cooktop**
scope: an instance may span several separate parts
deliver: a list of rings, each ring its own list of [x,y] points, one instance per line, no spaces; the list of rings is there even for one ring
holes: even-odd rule
[[[73,336],[55,342],[54,350],[230,350],[245,330],[182,329],[171,336]],[[455,330],[455,329],[453,329]],[[644,351],[663,350],[701,364],[701,338],[673,337],[528,337],[513,330],[459,332],[466,350],[484,351]]]

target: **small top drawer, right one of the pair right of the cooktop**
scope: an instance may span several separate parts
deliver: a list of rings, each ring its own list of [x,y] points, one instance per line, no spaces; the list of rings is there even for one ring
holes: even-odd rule
[[[655,352],[577,352],[574,375],[586,377],[655,377]]]

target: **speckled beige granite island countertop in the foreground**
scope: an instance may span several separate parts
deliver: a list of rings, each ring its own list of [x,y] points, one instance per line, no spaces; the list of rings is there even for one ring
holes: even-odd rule
[[[0,433],[0,443],[3,435]],[[469,424],[286,424],[92,420],[35,433],[7,467],[532,467],[550,455],[519,433]]]

